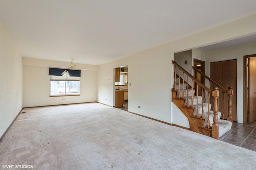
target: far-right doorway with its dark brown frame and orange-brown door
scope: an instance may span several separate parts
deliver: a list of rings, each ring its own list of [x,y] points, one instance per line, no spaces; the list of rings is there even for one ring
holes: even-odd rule
[[[244,123],[256,121],[256,54],[244,56]]]

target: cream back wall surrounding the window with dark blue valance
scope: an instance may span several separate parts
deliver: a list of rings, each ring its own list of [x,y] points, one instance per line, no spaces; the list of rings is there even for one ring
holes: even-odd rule
[[[97,101],[98,66],[76,64],[81,69],[80,96],[49,97],[49,67],[66,68],[69,63],[23,58],[23,64],[23,107]]]

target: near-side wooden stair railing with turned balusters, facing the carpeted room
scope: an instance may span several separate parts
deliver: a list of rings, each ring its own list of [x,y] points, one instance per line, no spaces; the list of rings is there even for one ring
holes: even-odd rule
[[[208,119],[207,119],[207,123],[206,123],[206,128],[210,129],[210,94],[212,94],[212,91],[210,90],[210,88],[208,88],[207,86],[205,86],[204,84],[202,84],[199,80],[197,80],[194,76],[192,76],[189,72],[187,72],[186,70],[184,70],[180,65],[178,65],[175,61],[172,61],[172,64],[174,64],[174,89],[172,91],[172,98],[179,98],[179,99],[183,99],[186,101],[186,104],[184,105],[184,107],[191,107],[194,109],[194,91],[195,91],[195,96],[196,96],[196,115],[193,115],[194,117],[198,117],[198,118],[204,118],[204,98],[203,96],[205,95],[204,92],[208,92]],[[182,72],[182,75],[180,74],[180,72]],[[178,75],[178,77],[177,77]],[[181,78],[182,77],[182,78]],[[176,82],[176,78],[178,78],[178,82]],[[186,79],[186,81],[185,81]],[[181,82],[182,82],[182,87],[181,87]],[[187,84],[186,89],[184,88],[184,84]],[[194,87],[195,84],[195,87]],[[191,86],[191,89],[189,89],[189,85]],[[177,88],[178,86],[178,88]],[[198,104],[199,104],[199,100],[198,100],[198,90],[202,90],[202,96],[200,96],[200,98],[202,98],[202,113],[201,115],[199,115],[198,113]],[[187,94],[189,94],[189,90],[191,91],[192,97],[191,97],[191,103],[189,102],[189,95],[184,96],[184,91],[187,90]],[[180,95],[182,91],[182,95]],[[216,91],[216,90],[215,90]],[[217,90],[218,91],[218,90]],[[217,97],[218,98],[218,97]],[[213,106],[218,106],[217,104],[217,100],[214,100]],[[216,110],[215,110],[216,111]],[[217,111],[218,112],[218,111]],[[216,133],[215,134],[219,134],[218,131],[218,117],[216,117],[218,115],[218,113],[216,112],[216,114],[214,115],[214,127]],[[218,129],[218,130],[217,130]],[[217,135],[218,136],[218,135]],[[215,138],[215,139],[218,139]]]

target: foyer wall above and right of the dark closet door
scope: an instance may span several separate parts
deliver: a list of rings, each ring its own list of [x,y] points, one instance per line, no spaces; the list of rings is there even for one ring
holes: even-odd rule
[[[227,49],[208,51],[206,56],[206,75],[210,74],[210,63],[237,59],[237,120],[243,123],[243,81],[244,81],[244,55],[256,54],[256,43],[249,45],[236,46]]]

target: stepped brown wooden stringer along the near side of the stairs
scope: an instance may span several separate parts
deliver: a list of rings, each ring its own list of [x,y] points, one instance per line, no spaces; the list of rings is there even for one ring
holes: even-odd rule
[[[172,99],[172,102],[174,102],[174,104],[188,118],[190,131],[212,137],[212,129],[208,129],[208,128],[204,127],[204,118],[195,117],[194,113],[193,113],[194,109],[192,107],[185,107],[184,101],[185,101],[185,99],[180,99],[180,98]]]

